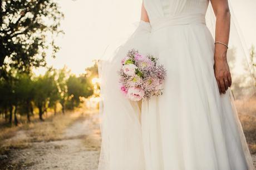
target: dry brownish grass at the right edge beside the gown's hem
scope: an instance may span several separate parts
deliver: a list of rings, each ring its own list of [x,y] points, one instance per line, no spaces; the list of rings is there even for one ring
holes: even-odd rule
[[[256,153],[256,97],[246,101],[235,101],[244,135],[252,154]]]

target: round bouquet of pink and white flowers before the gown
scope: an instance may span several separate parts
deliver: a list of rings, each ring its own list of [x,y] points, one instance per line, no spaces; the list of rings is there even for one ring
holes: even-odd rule
[[[150,99],[163,94],[166,70],[157,63],[157,58],[140,54],[131,49],[121,61],[121,92],[131,101]]]

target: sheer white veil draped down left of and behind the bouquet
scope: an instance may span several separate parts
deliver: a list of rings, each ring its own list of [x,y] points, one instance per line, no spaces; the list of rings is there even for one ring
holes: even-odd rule
[[[130,170],[144,167],[140,103],[130,102],[122,96],[117,71],[120,69],[121,59],[130,49],[139,49],[142,53],[148,51],[145,44],[149,32],[149,23],[141,21],[124,46],[119,46],[108,59],[99,62],[102,98],[100,170]],[[115,45],[109,48],[115,49]],[[107,53],[109,52],[105,52],[106,55]]]

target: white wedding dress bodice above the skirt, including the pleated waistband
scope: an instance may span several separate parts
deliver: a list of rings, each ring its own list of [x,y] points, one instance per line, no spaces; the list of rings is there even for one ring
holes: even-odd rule
[[[209,0],[144,0],[152,29],[171,25],[205,24]]]

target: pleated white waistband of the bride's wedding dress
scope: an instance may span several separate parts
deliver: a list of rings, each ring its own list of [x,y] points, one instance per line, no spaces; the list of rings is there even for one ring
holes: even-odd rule
[[[170,26],[205,24],[205,14],[179,14],[150,21],[151,32]]]

